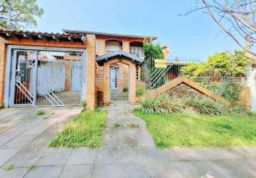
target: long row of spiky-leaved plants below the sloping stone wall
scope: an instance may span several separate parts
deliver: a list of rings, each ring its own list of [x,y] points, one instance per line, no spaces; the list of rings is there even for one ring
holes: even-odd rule
[[[255,114],[250,113],[238,103],[230,107],[227,103],[220,103],[217,100],[207,97],[176,98],[164,94],[157,96],[154,100],[144,100],[141,105],[142,108],[139,110],[144,114],[169,114],[179,112],[207,115],[251,115],[251,117],[256,117]]]

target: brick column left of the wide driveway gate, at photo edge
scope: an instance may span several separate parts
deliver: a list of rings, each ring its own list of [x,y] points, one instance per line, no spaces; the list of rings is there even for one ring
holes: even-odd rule
[[[6,46],[4,38],[0,37],[0,107],[4,105],[4,84],[6,73]]]

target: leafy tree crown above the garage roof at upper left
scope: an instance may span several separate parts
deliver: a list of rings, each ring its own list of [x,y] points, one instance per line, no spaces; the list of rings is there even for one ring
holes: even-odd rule
[[[14,30],[36,26],[35,16],[44,14],[36,0],[0,0],[0,26]]]

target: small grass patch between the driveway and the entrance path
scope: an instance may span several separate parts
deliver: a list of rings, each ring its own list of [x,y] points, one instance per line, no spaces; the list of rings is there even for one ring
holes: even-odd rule
[[[49,142],[49,147],[100,147],[107,112],[85,110]]]

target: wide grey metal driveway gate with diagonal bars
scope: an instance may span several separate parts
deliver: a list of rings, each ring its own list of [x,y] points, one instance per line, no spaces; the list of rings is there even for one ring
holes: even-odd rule
[[[14,50],[10,105],[79,105],[82,52]]]

